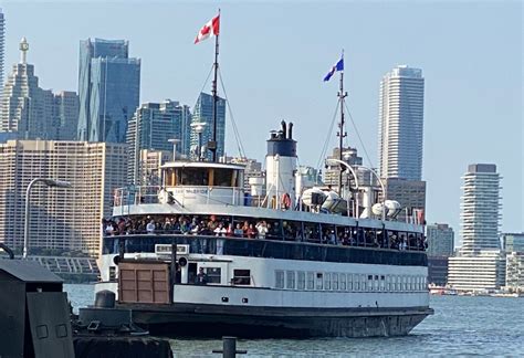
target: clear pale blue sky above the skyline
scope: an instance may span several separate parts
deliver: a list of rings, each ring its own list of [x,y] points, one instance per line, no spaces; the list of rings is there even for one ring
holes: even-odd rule
[[[232,118],[250,158],[263,160],[269,131],[294,123],[298,162],[316,167],[338,77],[322,78],[345,51],[347,143],[377,166],[381,77],[422,69],[427,221],[460,234],[461,177],[473,162],[503,177],[503,232],[524,231],[523,4],[521,1],[0,1],[6,76],[27,36],[40,86],[77,91],[78,42],[126,39],[142,59],[140,103],[192,106],[210,72],[213,40],[193,44],[221,9],[220,69]],[[220,90],[220,95],[224,92]],[[228,155],[238,145],[228,115]],[[356,129],[363,143],[358,140]],[[331,150],[331,149],[329,149]],[[368,154],[368,157],[365,154]]]

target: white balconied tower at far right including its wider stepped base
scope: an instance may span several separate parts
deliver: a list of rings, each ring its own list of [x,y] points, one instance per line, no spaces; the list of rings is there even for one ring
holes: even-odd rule
[[[457,289],[496,289],[504,285],[506,265],[499,239],[501,177],[495,165],[473,164],[462,179],[462,246],[449,259],[448,283]]]

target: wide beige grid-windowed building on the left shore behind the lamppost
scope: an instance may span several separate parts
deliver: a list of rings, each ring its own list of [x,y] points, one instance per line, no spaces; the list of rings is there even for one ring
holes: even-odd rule
[[[0,240],[23,241],[24,193],[34,178],[70,181],[71,189],[31,191],[30,254],[76,252],[97,256],[101,220],[113,189],[126,183],[126,146],[104,143],[8,140],[0,144]]]

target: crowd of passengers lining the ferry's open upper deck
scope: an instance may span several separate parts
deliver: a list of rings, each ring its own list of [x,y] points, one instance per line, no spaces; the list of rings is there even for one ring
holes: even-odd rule
[[[316,223],[279,220],[243,220],[231,222],[231,217],[170,215],[170,217],[122,217],[102,221],[105,235],[133,234],[192,234],[262,240],[307,241],[332,245],[375,246],[397,250],[426,250],[423,235],[381,230],[334,227],[323,228]]]

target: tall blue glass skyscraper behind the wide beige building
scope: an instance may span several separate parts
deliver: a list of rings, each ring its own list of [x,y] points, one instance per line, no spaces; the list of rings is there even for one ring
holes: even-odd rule
[[[80,42],[78,140],[125,143],[140,92],[140,60],[128,49],[124,40]]]

